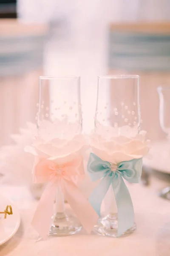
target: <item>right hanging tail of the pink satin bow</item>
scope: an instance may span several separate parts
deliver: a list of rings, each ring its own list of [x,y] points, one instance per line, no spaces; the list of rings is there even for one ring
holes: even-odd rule
[[[69,180],[61,181],[62,192],[88,234],[93,230],[99,216],[80,189]]]

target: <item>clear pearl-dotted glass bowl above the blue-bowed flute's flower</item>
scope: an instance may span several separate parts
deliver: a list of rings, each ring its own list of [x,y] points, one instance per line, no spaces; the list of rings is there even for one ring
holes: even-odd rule
[[[133,131],[138,134],[140,118],[139,76],[99,76],[96,133],[104,132],[107,136],[112,131],[121,136]]]

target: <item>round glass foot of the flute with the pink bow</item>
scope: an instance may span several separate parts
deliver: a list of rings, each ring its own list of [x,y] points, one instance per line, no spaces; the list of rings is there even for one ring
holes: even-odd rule
[[[78,233],[82,225],[74,216],[67,216],[65,213],[58,212],[53,217],[53,224],[49,230],[50,236],[70,236]]]

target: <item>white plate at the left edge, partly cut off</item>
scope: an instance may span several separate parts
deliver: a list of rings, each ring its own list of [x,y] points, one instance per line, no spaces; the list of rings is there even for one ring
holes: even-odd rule
[[[3,212],[7,205],[11,205],[13,214],[7,215],[6,219],[4,214],[0,214],[0,245],[11,239],[20,227],[20,214],[16,205],[0,195],[0,212]]]

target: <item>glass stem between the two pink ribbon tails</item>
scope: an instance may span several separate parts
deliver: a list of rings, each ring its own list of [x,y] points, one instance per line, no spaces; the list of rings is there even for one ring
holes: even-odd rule
[[[56,201],[55,201],[55,214],[64,214],[65,206],[64,206],[64,195],[62,193],[60,180],[57,183],[57,191],[56,191]]]

